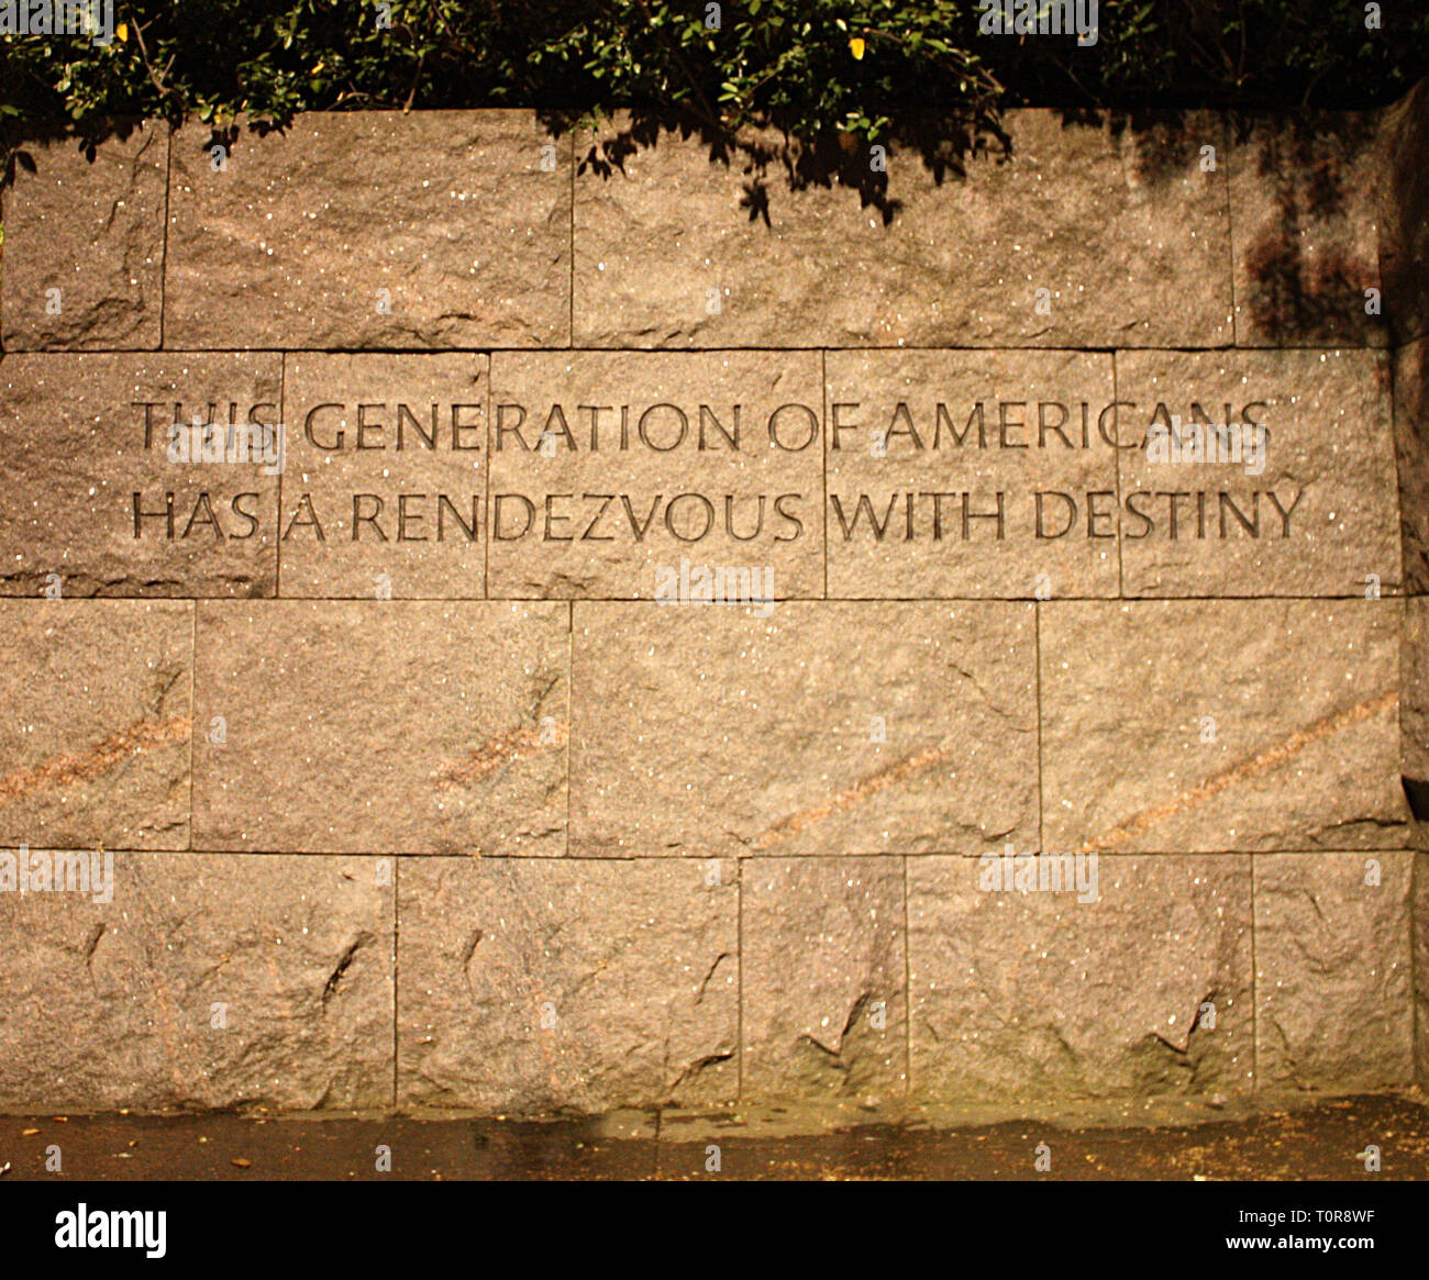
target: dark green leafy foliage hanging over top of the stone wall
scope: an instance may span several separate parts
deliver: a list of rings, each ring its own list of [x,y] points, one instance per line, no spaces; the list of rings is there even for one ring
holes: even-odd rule
[[[1049,0],[1017,0],[1032,3]],[[580,116],[633,106],[704,127],[765,120],[800,137],[876,140],[913,116],[1015,103],[1369,106],[1429,67],[1422,0],[1082,0],[1095,43],[989,34],[987,7],[117,0],[107,47],[83,36],[0,36],[0,116],[90,126],[196,114],[223,127],[239,113],[282,124],[300,110],[534,106]]]

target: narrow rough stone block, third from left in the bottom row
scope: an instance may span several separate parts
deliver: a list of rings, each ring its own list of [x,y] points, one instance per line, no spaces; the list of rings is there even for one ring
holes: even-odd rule
[[[745,1093],[902,1096],[903,860],[746,859],[740,904]]]

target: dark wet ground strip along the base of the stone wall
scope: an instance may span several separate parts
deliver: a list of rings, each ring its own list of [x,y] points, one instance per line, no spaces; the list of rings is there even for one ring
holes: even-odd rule
[[[53,1164],[59,1149],[60,1171]],[[382,1149],[390,1171],[379,1171]],[[1372,1153],[1378,1154],[1378,1171]],[[1037,1167],[1039,1161],[1043,1167]],[[717,1169],[716,1169],[717,1166]],[[1050,1166],[1050,1167],[1046,1167]],[[1423,1180],[1422,1091],[1060,1120],[617,1113],[579,1120],[4,1116],[6,1180]]]

